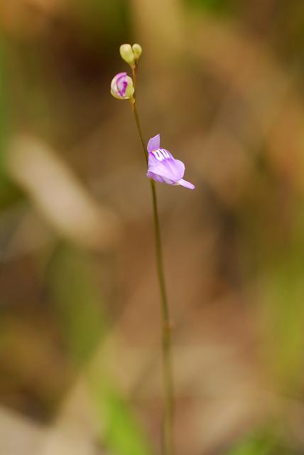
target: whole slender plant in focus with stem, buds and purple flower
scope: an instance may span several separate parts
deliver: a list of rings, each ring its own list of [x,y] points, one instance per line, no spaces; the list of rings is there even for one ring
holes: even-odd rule
[[[134,114],[136,126],[143,147],[143,154],[148,166],[147,177],[150,178],[151,193],[153,201],[153,220],[154,234],[156,242],[156,264],[158,270],[158,282],[161,291],[161,314],[162,314],[162,353],[163,353],[163,385],[165,395],[165,410],[163,419],[163,454],[173,455],[174,438],[173,438],[173,421],[174,421],[174,392],[173,392],[173,372],[171,364],[171,324],[168,308],[168,299],[165,289],[165,276],[163,270],[163,253],[161,246],[161,230],[158,217],[158,203],[156,196],[155,182],[167,183],[174,186],[185,186],[185,188],[194,189],[192,183],[183,179],[185,165],[182,161],[174,159],[168,150],[161,149],[160,135],[152,137],[146,142],[141,132],[139,114],[136,106],[136,86],[137,72],[139,68],[139,58],[141,57],[141,46],[139,44],[122,44],[120,46],[120,55],[132,69],[132,76],[126,73],[118,73],[111,82],[111,93],[118,100],[129,100],[131,109]]]

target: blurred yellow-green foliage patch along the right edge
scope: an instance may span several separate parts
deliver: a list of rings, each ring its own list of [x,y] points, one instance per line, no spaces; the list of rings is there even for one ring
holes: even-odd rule
[[[291,237],[267,262],[262,279],[264,355],[276,382],[297,395],[304,367],[304,220],[295,215]],[[282,390],[281,390],[282,391]]]

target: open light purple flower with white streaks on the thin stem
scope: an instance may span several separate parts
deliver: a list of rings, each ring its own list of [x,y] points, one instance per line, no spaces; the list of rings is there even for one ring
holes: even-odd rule
[[[168,183],[168,185],[181,185],[194,190],[192,183],[183,179],[185,164],[173,158],[170,151],[160,149],[161,138],[157,134],[148,141],[148,173],[147,177],[156,182]]]

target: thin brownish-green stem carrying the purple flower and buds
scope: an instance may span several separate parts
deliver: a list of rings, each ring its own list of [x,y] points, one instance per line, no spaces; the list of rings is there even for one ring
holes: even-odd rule
[[[137,82],[137,69],[136,65],[133,69],[133,83],[134,83],[134,102],[131,102],[132,112],[134,114],[136,126],[143,146],[143,154],[148,164],[148,151],[146,150],[146,143],[143,140],[143,133],[141,132],[141,124],[139,122],[139,114],[136,106],[136,82]],[[156,245],[156,265],[158,271],[158,283],[161,291],[161,316],[162,316],[162,353],[163,353],[163,387],[165,395],[165,410],[163,418],[163,454],[174,455],[174,389],[173,389],[173,370],[171,360],[171,324],[168,307],[167,293],[165,291],[165,274],[163,270],[163,250],[161,245],[161,228],[158,217],[158,202],[156,196],[155,181],[150,179],[151,193],[153,201],[153,221],[154,221],[154,235]]]

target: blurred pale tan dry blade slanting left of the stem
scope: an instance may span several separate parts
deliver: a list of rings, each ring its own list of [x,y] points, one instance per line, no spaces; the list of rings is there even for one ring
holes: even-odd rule
[[[119,222],[101,207],[71,169],[48,145],[33,137],[11,142],[11,177],[58,234],[85,247],[103,250],[119,238]]]

